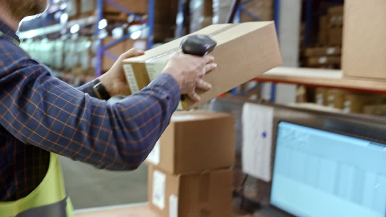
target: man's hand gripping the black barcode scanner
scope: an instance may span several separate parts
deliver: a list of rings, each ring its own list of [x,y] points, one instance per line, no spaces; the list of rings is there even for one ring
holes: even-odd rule
[[[181,94],[187,94],[189,98],[198,102],[201,97],[197,94],[196,88],[206,91],[212,88],[203,77],[207,72],[217,68],[214,60],[215,58],[210,55],[198,57],[178,52],[170,57],[163,73],[170,74],[177,81]]]

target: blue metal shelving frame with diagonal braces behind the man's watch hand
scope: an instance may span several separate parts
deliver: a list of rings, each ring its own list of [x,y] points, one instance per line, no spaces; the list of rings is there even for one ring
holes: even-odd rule
[[[100,29],[98,28],[98,24],[99,22],[101,22],[103,20],[103,4],[104,3],[107,3],[107,4],[110,4],[111,6],[121,10],[122,12],[126,13],[127,15],[131,15],[131,16],[134,16],[135,20],[136,21],[139,21],[143,24],[146,24],[145,27],[143,27],[142,29],[138,30],[138,31],[141,31],[141,30],[144,30],[146,28],[148,28],[148,40],[147,40],[147,48],[150,49],[152,46],[153,46],[153,32],[154,32],[154,0],[148,0],[148,4],[149,4],[149,8],[148,8],[148,19],[147,21],[143,20],[140,16],[132,13],[131,11],[129,11],[128,9],[122,7],[121,5],[117,4],[116,2],[114,2],[114,0],[98,0],[98,4],[97,4],[97,10],[98,10],[98,23],[96,24],[96,29],[97,29],[97,34],[99,36],[99,33],[100,33]],[[123,36],[122,38],[110,43],[110,44],[107,44],[107,45],[103,45],[102,43],[102,40],[99,39],[99,45],[98,45],[98,50],[96,51],[96,76],[100,76],[102,74],[102,58],[103,56],[107,56],[109,58],[112,58],[114,60],[117,60],[118,57],[109,53],[107,51],[108,48],[120,43],[121,41],[123,40],[126,40],[128,38],[131,37],[131,34],[132,33],[129,33],[125,36]]]

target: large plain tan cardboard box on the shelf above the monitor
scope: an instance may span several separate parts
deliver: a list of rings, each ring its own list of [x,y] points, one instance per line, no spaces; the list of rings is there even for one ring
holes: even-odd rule
[[[344,75],[386,79],[386,1],[350,0],[344,7]]]

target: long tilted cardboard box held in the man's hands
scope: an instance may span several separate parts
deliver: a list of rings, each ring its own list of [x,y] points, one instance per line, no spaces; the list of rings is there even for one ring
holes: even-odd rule
[[[218,69],[204,77],[213,88],[198,92],[202,98],[199,103],[185,97],[182,101],[184,110],[207,102],[281,64],[274,22],[211,25],[195,34],[209,35],[217,41],[218,46],[211,55],[215,56]],[[123,61],[132,92],[138,92],[162,72],[170,55],[180,51],[183,38]]]

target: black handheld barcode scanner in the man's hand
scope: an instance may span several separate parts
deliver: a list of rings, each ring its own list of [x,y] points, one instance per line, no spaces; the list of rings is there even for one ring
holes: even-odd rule
[[[207,35],[191,35],[184,38],[181,42],[182,52],[195,56],[205,56],[212,52],[217,46],[217,42]],[[181,95],[181,100],[185,96]]]

